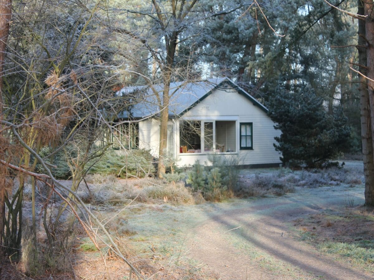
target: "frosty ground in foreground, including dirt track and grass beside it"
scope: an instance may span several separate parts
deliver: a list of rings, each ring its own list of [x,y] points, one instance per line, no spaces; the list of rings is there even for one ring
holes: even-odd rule
[[[345,168],[360,169],[362,162]],[[363,204],[363,183],[304,186],[223,203],[137,203],[107,225],[126,257],[153,279],[374,279],[374,211]],[[105,221],[122,208],[93,210]],[[129,278],[105,247],[104,265],[83,234],[74,251],[77,279],[105,279],[107,272]]]

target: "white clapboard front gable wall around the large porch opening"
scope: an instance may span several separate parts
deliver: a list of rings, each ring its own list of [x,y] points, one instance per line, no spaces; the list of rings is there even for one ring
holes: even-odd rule
[[[238,94],[233,88],[225,90],[216,90],[210,94],[194,108],[187,111],[181,118],[183,119],[211,119],[215,121],[235,120],[236,121],[236,147],[239,155],[240,164],[278,164],[281,163],[281,156],[273,146],[274,137],[280,135],[280,131],[274,129],[273,121],[258,106],[255,106],[251,100]],[[240,150],[239,147],[239,123],[252,122],[253,124],[253,150]],[[176,127],[178,129],[178,126]],[[176,131],[178,136],[178,130]],[[196,159],[201,163],[208,162],[208,155],[202,154],[180,154],[179,139],[177,143],[177,164],[180,166],[192,165]],[[216,141],[218,141],[216,139]],[[222,155],[222,156],[232,156]]]

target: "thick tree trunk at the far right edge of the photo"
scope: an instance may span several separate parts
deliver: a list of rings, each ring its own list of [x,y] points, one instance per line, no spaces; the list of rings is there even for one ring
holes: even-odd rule
[[[373,2],[371,2],[373,3]],[[373,7],[373,6],[371,6]],[[358,0],[358,14],[367,14],[367,7],[362,4],[362,0]],[[368,17],[369,18],[369,17]],[[365,46],[367,41],[365,36],[367,36],[366,26],[368,19],[358,21],[358,45]],[[366,35],[365,35],[366,34]],[[373,37],[373,35],[371,35]],[[370,42],[369,42],[370,43]],[[369,56],[374,56],[373,45],[371,45],[371,50],[358,47],[358,60],[359,60],[359,71],[364,75],[373,75],[373,57],[368,60]],[[369,67],[369,71],[367,68]],[[369,76],[370,77],[370,76]],[[372,85],[368,87],[368,82],[366,78],[359,75],[360,85],[360,110],[361,110],[361,139],[362,139],[362,154],[364,161],[364,174],[365,174],[365,205],[374,206],[374,158],[373,158],[373,109],[371,106],[373,102],[373,87]],[[370,98],[370,95],[372,98]],[[371,100],[370,100],[371,99]]]

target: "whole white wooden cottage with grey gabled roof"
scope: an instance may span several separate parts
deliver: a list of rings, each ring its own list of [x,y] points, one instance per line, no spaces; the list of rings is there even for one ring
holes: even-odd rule
[[[162,86],[156,86],[162,92]],[[138,120],[121,128],[125,147],[159,152],[158,107],[153,91],[146,87],[126,87],[121,94],[138,92],[143,100],[119,119]],[[238,155],[242,165],[279,166],[280,154],[274,149],[274,137],[280,132],[267,115],[267,108],[229,78],[197,83],[172,83],[169,105],[169,156],[178,166],[207,162],[208,156]]]

